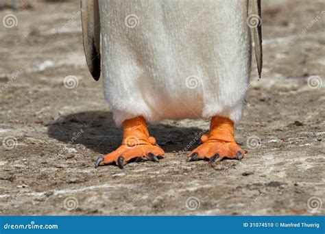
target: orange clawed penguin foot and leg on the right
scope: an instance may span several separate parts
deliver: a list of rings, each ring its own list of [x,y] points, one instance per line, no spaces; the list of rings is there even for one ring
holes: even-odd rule
[[[246,153],[234,140],[234,122],[215,116],[210,122],[210,132],[201,138],[203,144],[189,153],[187,161],[207,159],[209,163],[223,159],[241,160]]]

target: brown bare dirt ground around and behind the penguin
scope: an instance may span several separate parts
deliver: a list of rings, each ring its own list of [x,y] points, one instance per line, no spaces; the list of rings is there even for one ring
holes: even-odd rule
[[[150,126],[165,157],[124,170],[94,168],[121,129],[86,68],[78,1],[1,10],[0,212],[324,215],[325,1],[263,4],[263,79],[253,61],[236,127],[248,155],[186,163],[208,121],[165,120]],[[77,83],[66,88],[67,76]]]

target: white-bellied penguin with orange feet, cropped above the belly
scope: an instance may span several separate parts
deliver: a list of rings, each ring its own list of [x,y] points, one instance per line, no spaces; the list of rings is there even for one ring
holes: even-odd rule
[[[158,162],[165,152],[147,122],[164,119],[210,120],[188,162],[244,157],[234,125],[249,86],[252,39],[261,77],[261,0],[82,0],[81,8],[86,63],[96,81],[102,77],[123,127],[121,146],[99,157],[96,168]]]

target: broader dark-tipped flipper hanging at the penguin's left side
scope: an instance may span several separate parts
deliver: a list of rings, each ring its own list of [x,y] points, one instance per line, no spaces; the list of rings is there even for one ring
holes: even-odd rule
[[[81,0],[82,40],[84,53],[91,75],[97,81],[100,77],[100,20],[98,0]]]

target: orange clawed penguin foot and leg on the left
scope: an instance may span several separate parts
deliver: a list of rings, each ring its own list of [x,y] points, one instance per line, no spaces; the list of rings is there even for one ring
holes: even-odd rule
[[[149,136],[145,119],[140,116],[123,122],[123,142],[117,150],[96,160],[95,168],[108,164],[116,164],[123,168],[132,159],[144,159],[158,162],[157,156],[165,152],[156,144],[156,140]]]

